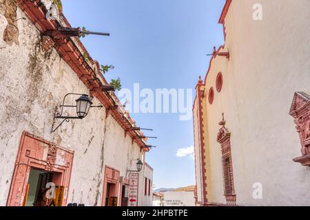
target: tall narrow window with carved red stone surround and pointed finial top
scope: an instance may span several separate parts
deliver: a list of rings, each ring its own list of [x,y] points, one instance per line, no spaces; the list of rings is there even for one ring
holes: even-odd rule
[[[226,129],[225,124],[226,122],[224,120],[223,113],[223,120],[219,123],[219,125],[222,127],[218,131],[216,140],[222,147],[224,195],[227,201],[227,205],[236,206],[236,192],[234,187],[234,174],[231,159],[230,133]]]

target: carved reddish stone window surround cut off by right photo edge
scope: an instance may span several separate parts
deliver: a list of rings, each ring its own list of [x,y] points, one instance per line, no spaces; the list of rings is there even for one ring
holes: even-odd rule
[[[294,118],[302,153],[301,157],[296,157],[293,161],[310,166],[310,96],[304,92],[296,92],[289,115]]]

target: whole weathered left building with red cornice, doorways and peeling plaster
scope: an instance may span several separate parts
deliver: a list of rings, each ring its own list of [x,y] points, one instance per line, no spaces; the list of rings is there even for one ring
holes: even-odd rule
[[[50,183],[59,206],[148,206],[147,138],[79,37],[59,34],[71,27],[61,8],[48,19],[52,2],[0,1],[0,206],[45,206]]]

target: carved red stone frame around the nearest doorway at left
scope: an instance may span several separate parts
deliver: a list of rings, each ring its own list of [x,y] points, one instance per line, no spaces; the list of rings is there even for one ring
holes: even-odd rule
[[[23,131],[6,205],[23,205],[30,169],[36,168],[59,174],[53,181],[57,186],[65,186],[64,206],[68,199],[73,157],[74,151]]]

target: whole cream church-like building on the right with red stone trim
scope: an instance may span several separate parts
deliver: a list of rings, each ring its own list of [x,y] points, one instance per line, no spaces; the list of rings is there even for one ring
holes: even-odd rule
[[[198,206],[310,205],[310,2],[227,0],[196,85]]]

